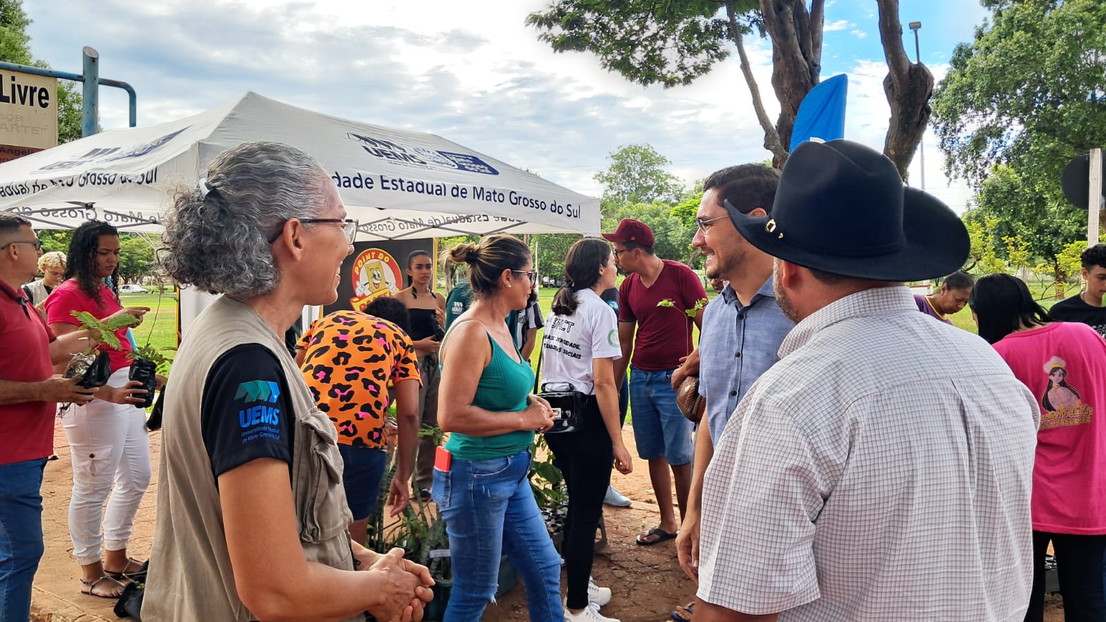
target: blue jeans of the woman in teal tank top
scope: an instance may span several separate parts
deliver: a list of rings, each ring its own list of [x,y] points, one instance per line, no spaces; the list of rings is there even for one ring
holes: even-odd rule
[[[449,535],[453,587],[444,622],[478,622],[495,595],[505,552],[526,584],[534,622],[564,622],[561,558],[530,488],[530,452],[490,460],[453,459],[434,469],[431,496]]]

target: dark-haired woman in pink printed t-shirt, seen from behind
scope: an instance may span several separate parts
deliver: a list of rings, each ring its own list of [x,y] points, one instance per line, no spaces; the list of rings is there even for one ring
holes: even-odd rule
[[[1044,612],[1044,557],[1052,542],[1065,620],[1106,620],[1106,341],[1086,324],[1054,322],[1020,279],[990,274],[969,304],[979,334],[1037,397],[1033,467],[1033,595]]]

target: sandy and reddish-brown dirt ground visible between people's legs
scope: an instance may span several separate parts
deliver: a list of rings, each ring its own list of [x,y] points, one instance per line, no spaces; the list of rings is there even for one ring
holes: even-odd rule
[[[627,446],[633,447],[633,433],[628,427],[626,435]],[[152,433],[154,478],[138,510],[131,547],[131,554],[138,559],[146,559],[149,554],[154,533],[160,445],[160,433]],[[31,620],[52,622],[118,620],[112,612],[114,601],[79,592],[80,569],[71,557],[73,546],[70,542],[66,519],[73,475],[70,467],[69,444],[60,426],[54,434],[54,446],[60,459],[46,464],[42,486],[45,553],[34,578]],[[593,574],[595,581],[609,587],[614,595],[611,603],[603,608],[603,613],[623,622],[669,621],[671,611],[678,604],[691,600],[695,584],[680,570],[671,541],[651,547],[639,547],[634,543],[634,536],[645,528],[655,526],[659,517],[646,463],[635,460],[634,473],[628,476],[615,473],[613,483],[617,489],[633,499],[634,504],[628,508],[609,506],[604,508],[608,546],[596,553]],[[1048,597],[1045,622],[1063,622],[1064,614],[1060,605],[1058,597]],[[500,599],[497,605],[489,607],[483,619],[492,622],[529,620],[522,583],[520,582],[514,590]]]

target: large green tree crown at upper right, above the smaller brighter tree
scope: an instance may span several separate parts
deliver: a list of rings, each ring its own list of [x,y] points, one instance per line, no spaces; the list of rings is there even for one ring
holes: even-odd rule
[[[979,187],[1009,164],[1055,196],[1072,156],[1106,146],[1106,2],[983,0],[933,94],[946,169]]]

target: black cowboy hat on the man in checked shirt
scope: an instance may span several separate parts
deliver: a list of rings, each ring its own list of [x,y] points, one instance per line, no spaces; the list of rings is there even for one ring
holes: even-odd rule
[[[891,160],[851,141],[795,147],[769,216],[745,216],[724,205],[754,247],[844,277],[942,277],[959,270],[971,249],[968,230],[947,205],[905,187]]]

